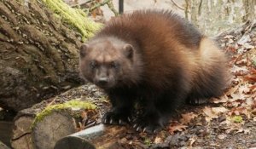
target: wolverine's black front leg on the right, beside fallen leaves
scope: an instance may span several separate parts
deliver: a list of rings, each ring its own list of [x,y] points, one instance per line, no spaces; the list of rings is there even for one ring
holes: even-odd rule
[[[172,111],[181,105],[182,96],[180,94],[172,94],[171,91],[165,94],[145,95],[143,114],[137,117],[133,127],[137,131],[146,131],[148,133],[154,133],[163,129],[168,123]]]

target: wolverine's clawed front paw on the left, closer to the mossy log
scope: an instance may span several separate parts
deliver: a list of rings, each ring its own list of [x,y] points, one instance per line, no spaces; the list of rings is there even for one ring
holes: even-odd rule
[[[102,123],[105,124],[120,124],[130,123],[131,118],[124,113],[120,112],[107,112],[104,117],[102,117]]]

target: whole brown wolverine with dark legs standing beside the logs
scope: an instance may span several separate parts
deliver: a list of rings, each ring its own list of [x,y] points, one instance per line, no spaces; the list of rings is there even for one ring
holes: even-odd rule
[[[102,88],[112,110],[102,123],[163,128],[185,102],[218,97],[226,85],[224,52],[189,21],[168,10],[137,10],[110,20],[80,48],[84,79]]]

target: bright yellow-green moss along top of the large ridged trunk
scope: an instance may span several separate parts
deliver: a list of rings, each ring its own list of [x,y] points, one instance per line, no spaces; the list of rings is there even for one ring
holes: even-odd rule
[[[102,24],[96,23],[86,18],[87,14],[81,9],[73,9],[62,0],[43,0],[49,9],[61,16],[61,19],[78,29],[82,34],[82,40],[88,39],[99,30]]]

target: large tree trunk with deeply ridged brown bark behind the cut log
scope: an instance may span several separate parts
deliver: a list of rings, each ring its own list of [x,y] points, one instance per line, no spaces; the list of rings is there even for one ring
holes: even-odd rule
[[[81,83],[78,51],[84,32],[69,29],[43,2],[49,1],[0,1],[2,107],[19,111]]]

